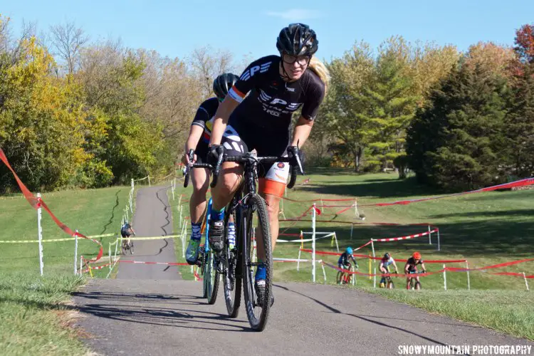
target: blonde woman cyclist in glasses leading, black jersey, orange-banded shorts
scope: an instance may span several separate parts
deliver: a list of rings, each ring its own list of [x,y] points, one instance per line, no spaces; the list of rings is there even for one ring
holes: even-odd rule
[[[299,149],[308,139],[313,120],[323,101],[328,86],[328,70],[313,55],[318,50],[318,39],[309,26],[291,23],[278,35],[278,56],[266,56],[253,61],[229,90],[215,114],[209,162],[216,162],[218,147],[229,155],[243,155],[256,150],[258,156],[290,155],[293,163]],[[308,70],[311,69],[311,70]],[[302,108],[289,135],[291,117]],[[227,124],[236,135],[226,137]],[[242,168],[233,162],[224,162],[219,183],[211,190],[213,209],[209,226],[209,244],[214,251],[223,247],[224,206],[238,187]],[[267,201],[273,248],[278,238],[278,209],[289,174],[288,164],[278,162],[259,167],[259,193]],[[261,234],[261,231],[256,231]],[[261,236],[258,241],[256,293],[263,298],[266,268]]]

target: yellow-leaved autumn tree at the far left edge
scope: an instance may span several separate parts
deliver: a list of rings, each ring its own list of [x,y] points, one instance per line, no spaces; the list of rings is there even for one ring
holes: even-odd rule
[[[35,38],[22,40],[22,56],[0,55],[0,146],[31,189],[72,184],[90,159],[83,150],[85,113],[78,88],[51,76],[56,66]],[[14,187],[0,167],[1,189]]]

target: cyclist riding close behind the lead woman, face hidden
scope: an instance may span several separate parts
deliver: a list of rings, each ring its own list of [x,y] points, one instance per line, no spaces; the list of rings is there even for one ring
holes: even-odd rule
[[[215,78],[213,83],[213,91],[215,98],[209,98],[201,103],[197,110],[191,129],[189,130],[189,137],[185,143],[185,154],[182,159],[184,164],[194,162],[205,162],[206,154],[208,152],[208,142],[213,128],[213,117],[219,103],[226,97],[228,90],[237,82],[239,77],[233,73],[223,73]],[[194,150],[194,159],[189,162],[189,150]],[[194,265],[199,258],[199,246],[201,238],[201,224],[206,210],[206,192],[208,191],[209,170],[204,168],[193,168],[191,170],[191,180],[193,182],[193,194],[189,199],[189,211],[191,215],[191,238],[185,253],[187,263]],[[232,242],[232,231],[235,231],[234,223],[229,224],[229,239]]]

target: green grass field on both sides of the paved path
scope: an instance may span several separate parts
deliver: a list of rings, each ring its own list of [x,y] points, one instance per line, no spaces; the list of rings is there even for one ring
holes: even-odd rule
[[[425,201],[409,205],[366,206],[383,201],[416,199],[433,194],[429,189],[419,187],[413,179],[400,181],[394,174],[370,174],[358,176],[332,170],[317,171],[308,175],[308,184],[299,185],[288,191],[288,198],[298,201],[309,199],[347,199],[357,198],[360,213],[365,213],[365,221],[356,219],[354,207],[342,214],[333,213],[342,206],[320,206],[319,219],[332,220],[319,222],[317,231],[335,231],[340,249],[353,248],[365,244],[370,238],[384,238],[416,234],[427,230],[426,226],[410,224],[430,223],[438,226],[441,234],[441,251],[436,251],[436,236],[429,245],[425,236],[420,239],[377,243],[377,256],[385,251],[394,258],[407,258],[413,251],[421,251],[424,259],[464,259],[469,266],[480,267],[505,261],[533,257],[533,204],[534,191],[489,192],[469,194]],[[299,179],[303,182],[303,179]],[[177,184],[177,194],[184,194],[182,202],[186,205],[184,216],[188,215],[187,200],[190,188],[183,189]],[[130,187],[109,189],[64,191],[43,194],[43,199],[61,221],[72,229],[85,235],[118,233],[122,209]],[[174,231],[180,231],[177,217],[178,195],[171,199]],[[310,207],[309,202],[284,201],[283,211],[289,219],[300,216]],[[349,205],[349,202],[317,201],[318,205]],[[310,216],[304,216],[310,219]],[[355,222],[350,237],[350,224]],[[373,223],[397,223],[402,226],[380,226]],[[37,239],[36,211],[20,194],[0,197],[0,241]],[[189,230],[189,226],[188,226]],[[311,231],[308,221],[282,222],[281,231],[298,234],[300,230]],[[190,231],[190,230],[189,230]],[[43,238],[66,238],[66,234],[53,224],[48,215],[43,214]],[[281,239],[295,239],[284,236]],[[105,254],[115,237],[98,239],[102,242]],[[182,245],[176,240],[177,256],[183,261]],[[317,249],[336,251],[330,239],[318,240]],[[281,244],[276,246],[274,256],[296,258],[300,244]],[[75,331],[64,328],[72,313],[66,301],[69,293],[83,284],[83,279],[73,276],[74,242],[44,244],[44,278],[38,276],[37,244],[1,244],[0,251],[0,318],[6,320],[0,326],[0,346],[7,353],[20,355],[45,350],[47,355],[74,355],[86,350],[76,339]],[[310,244],[305,244],[310,248]],[[370,254],[370,248],[358,251]],[[78,256],[93,258],[98,246],[90,241],[80,240]],[[302,258],[309,258],[303,254]],[[325,261],[335,264],[335,256],[323,256]],[[359,260],[360,271],[369,272],[368,259]],[[451,264],[464,267],[464,264]],[[371,269],[377,267],[372,263]],[[399,268],[402,269],[402,263]],[[442,264],[429,264],[429,271],[439,271]],[[534,263],[523,263],[507,268],[488,271],[473,271],[470,274],[471,290],[467,291],[465,272],[446,274],[447,289],[443,290],[442,274],[422,278],[424,290],[409,293],[402,290],[402,280],[397,280],[396,290],[373,289],[373,280],[357,276],[357,288],[365,288],[370,293],[379,293],[403,303],[410,303],[435,313],[444,313],[454,318],[467,320],[495,328],[513,335],[534,338],[531,316],[534,305],[531,293],[525,291],[523,278],[494,276],[493,272],[512,271],[533,274]],[[95,271],[95,276],[103,278],[108,269]],[[116,271],[116,270],[115,270]],[[189,266],[180,268],[184,278],[193,278]],[[336,271],[327,268],[326,283],[335,283]],[[318,266],[317,281],[323,283],[323,272]],[[311,280],[310,263],[301,263],[296,271],[295,263],[276,263],[276,281]],[[530,280],[532,281],[532,280]],[[200,283],[199,283],[200,288]],[[200,289],[199,289],[200,290]],[[500,304],[498,304],[500,303]],[[501,310],[498,305],[503,306]],[[458,306],[458,308],[455,308]],[[511,318],[510,315],[513,315]],[[530,320],[530,321],[529,321]],[[36,325],[43,325],[36,331]]]

